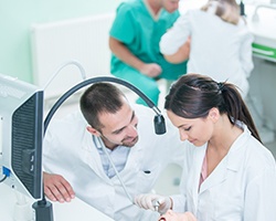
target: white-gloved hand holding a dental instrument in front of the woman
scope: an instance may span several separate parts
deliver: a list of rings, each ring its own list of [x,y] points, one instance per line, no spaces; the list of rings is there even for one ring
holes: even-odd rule
[[[135,197],[135,204],[142,209],[158,211],[163,214],[171,208],[171,199],[169,197],[152,193],[138,194]]]

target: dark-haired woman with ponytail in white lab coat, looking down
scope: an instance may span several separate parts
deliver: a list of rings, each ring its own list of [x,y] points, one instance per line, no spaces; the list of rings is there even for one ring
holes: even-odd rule
[[[199,221],[276,220],[275,159],[234,85],[188,74],[172,85],[164,105],[181,140],[190,141],[182,194],[141,194],[136,203],[152,209],[158,200],[159,212],[189,211]]]

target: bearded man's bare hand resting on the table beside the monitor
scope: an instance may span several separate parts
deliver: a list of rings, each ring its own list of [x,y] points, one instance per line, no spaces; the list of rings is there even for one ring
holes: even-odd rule
[[[70,202],[75,198],[71,185],[61,175],[43,172],[44,193],[52,201]]]

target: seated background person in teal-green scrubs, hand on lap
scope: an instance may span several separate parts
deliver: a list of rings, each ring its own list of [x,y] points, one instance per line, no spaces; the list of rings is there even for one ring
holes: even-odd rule
[[[159,50],[160,38],[180,15],[178,8],[179,0],[123,2],[109,31],[110,73],[134,84],[156,105],[160,94],[157,81],[174,81],[187,73],[187,61],[169,63]],[[137,103],[145,104],[141,98]]]

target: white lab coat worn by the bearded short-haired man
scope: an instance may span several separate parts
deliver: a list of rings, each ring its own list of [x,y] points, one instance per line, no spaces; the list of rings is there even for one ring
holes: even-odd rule
[[[139,120],[139,140],[131,147],[127,164],[119,172],[131,197],[150,192],[168,164],[182,165],[184,151],[178,130],[169,120],[166,123],[171,128],[167,134],[156,135],[153,110],[141,105],[134,109]],[[116,221],[158,220],[157,212],[131,204],[116,176],[109,179],[105,175],[86,126],[81,113],[51,122],[43,146],[45,171],[62,175],[73,186],[76,197]]]

